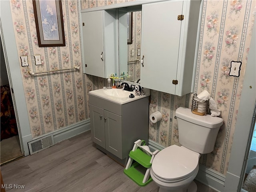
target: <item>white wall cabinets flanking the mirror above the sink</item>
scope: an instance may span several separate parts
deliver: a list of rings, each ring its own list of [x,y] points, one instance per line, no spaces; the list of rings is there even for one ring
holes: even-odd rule
[[[99,11],[97,9],[100,8],[94,8],[92,10],[95,11],[82,13],[85,26],[87,22],[91,23],[88,28],[83,26],[86,74],[108,78],[110,74],[120,75],[122,71],[126,72],[127,55],[130,54],[127,45],[127,13],[142,10],[138,62],[140,85],[178,96],[193,92],[202,1],[130,2],[132,3],[136,6],[112,5],[111,8],[116,8]],[[109,6],[105,7],[107,9]],[[96,14],[99,16],[96,17]],[[98,29],[95,28],[96,23],[99,25]],[[102,34],[98,34],[99,32]],[[96,46],[96,40],[99,41],[99,46]],[[102,52],[103,60],[100,58],[99,61],[98,55]]]

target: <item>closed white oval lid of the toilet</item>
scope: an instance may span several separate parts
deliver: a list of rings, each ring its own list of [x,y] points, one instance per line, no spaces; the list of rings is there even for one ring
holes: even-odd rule
[[[196,153],[172,145],[156,154],[151,168],[156,176],[164,180],[177,180],[193,174],[198,166],[198,160]]]

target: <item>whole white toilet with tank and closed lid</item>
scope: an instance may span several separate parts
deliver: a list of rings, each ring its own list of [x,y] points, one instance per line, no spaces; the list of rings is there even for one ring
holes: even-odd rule
[[[193,181],[199,169],[201,154],[214,150],[222,118],[199,116],[190,109],[176,110],[179,143],[164,148],[155,156],[150,176],[160,187],[159,192],[196,192]]]

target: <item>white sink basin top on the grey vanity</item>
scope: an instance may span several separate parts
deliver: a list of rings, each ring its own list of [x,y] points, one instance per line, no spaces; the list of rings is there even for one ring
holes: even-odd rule
[[[112,102],[116,102],[119,104],[125,104],[128,102],[149,96],[150,90],[144,88],[143,96],[136,95],[135,91],[130,92],[130,91],[125,91],[123,89],[116,89],[116,88],[98,89],[98,90],[90,91],[90,94],[102,97],[102,98],[110,100]],[[134,98],[130,98],[129,97],[130,94],[134,94]]]

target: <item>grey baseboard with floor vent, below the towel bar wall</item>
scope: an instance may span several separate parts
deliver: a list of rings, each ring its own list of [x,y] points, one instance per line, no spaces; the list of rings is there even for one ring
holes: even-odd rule
[[[35,154],[61,141],[90,130],[90,120],[84,120],[65,128],[55,130],[27,142],[30,154]]]

